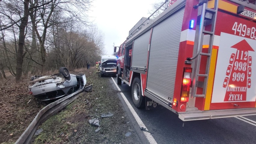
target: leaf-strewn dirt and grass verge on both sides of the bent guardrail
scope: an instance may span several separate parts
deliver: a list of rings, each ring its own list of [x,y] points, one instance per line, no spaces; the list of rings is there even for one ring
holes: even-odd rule
[[[38,128],[43,131],[34,137],[32,143],[141,143],[117,97],[118,91],[109,84],[109,78],[99,78],[95,69],[70,73],[80,72],[85,73],[87,85],[93,84],[92,91],[80,93],[77,100],[44,122]],[[4,122],[0,125],[0,143],[14,143],[46,105],[27,94],[28,81],[24,81],[22,87],[16,84],[9,85],[11,89],[7,89],[9,86],[0,87],[0,121]],[[101,114],[108,112],[113,116],[101,118]],[[94,118],[99,119],[99,127],[88,122]],[[97,128],[100,130],[95,132]],[[131,136],[126,137],[127,132],[131,132]]]

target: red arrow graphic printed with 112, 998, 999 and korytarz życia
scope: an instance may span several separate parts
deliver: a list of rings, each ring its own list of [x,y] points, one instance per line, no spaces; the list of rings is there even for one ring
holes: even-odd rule
[[[223,87],[227,88],[224,101],[246,101],[246,93],[251,79],[248,79],[248,61],[251,62],[251,56],[248,56],[248,51],[254,51],[246,40],[231,46],[236,48],[236,54],[231,54],[229,65],[227,67],[226,77]],[[232,69],[231,69],[232,67]],[[231,69],[231,71],[230,71]]]

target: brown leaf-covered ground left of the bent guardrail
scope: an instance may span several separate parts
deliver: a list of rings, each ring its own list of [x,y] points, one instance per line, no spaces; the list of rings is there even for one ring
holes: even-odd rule
[[[0,83],[0,143],[14,143],[46,104],[29,95],[29,78],[15,84]]]

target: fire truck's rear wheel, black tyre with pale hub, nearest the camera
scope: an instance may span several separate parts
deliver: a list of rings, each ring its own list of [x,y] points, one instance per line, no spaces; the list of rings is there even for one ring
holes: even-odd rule
[[[145,107],[145,97],[142,96],[141,90],[142,88],[141,88],[140,79],[139,77],[135,77],[132,85],[132,98],[133,98],[133,104],[137,108]]]

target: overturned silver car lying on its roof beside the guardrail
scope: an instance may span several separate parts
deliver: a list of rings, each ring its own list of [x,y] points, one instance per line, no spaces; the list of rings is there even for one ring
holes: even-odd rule
[[[61,67],[58,74],[32,76],[29,94],[42,101],[60,98],[84,88],[86,77],[83,74],[69,74],[66,67]]]

